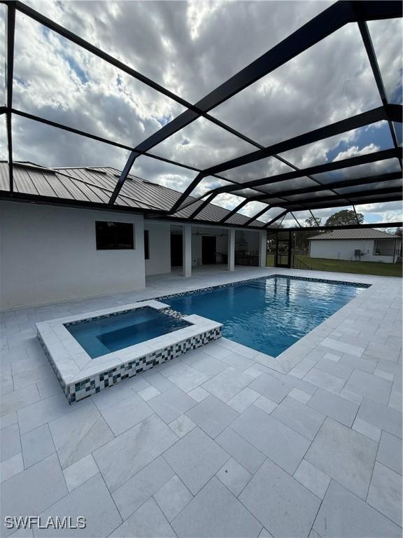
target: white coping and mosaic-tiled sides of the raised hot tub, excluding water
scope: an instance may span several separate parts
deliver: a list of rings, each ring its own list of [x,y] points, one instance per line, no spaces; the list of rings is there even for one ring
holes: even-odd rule
[[[72,324],[147,307],[183,319],[190,325],[95,359],[66,329],[66,326]],[[155,299],[36,323],[38,340],[69,403],[216,340],[221,334],[222,324],[198,315],[182,315]]]

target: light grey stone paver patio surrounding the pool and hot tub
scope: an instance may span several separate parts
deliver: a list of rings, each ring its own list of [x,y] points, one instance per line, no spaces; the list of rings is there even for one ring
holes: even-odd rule
[[[72,406],[36,339],[41,320],[278,273],[372,287],[276,369],[221,338]],[[2,522],[84,516],[61,532],[79,537],[401,536],[401,293],[385,277],[215,268],[4,312]]]

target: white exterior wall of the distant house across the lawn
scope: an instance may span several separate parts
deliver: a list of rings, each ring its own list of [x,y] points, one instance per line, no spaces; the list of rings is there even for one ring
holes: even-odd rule
[[[385,247],[389,249],[390,242],[394,242],[394,240],[385,240],[385,242],[387,243]],[[309,243],[310,258],[355,260],[354,251],[360,249],[363,253],[361,261],[383,261],[384,263],[393,263],[393,256],[374,255],[374,239],[312,240]],[[391,248],[393,249],[393,245]]]

